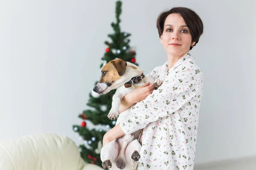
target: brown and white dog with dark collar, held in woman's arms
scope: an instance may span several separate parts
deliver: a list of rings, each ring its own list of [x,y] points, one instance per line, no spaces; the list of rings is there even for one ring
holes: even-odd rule
[[[129,113],[129,109],[119,114],[119,106],[125,94],[133,91],[135,88],[146,82],[154,83],[156,87],[162,84],[162,81],[145,77],[143,70],[137,65],[126,62],[122,59],[114,59],[108,62],[102,68],[102,78],[93,88],[98,94],[106,94],[116,89],[113,95],[112,108],[108,118],[116,120],[116,125]],[[134,104],[135,105],[135,104]],[[139,137],[142,130],[137,130],[129,135],[122,136],[111,141],[101,149],[102,167],[106,170],[127,169],[135,170],[137,161],[140,159],[141,145]]]

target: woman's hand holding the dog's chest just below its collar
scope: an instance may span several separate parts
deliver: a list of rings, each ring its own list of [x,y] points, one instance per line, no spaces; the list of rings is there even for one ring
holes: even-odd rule
[[[152,94],[155,90],[154,84],[150,82],[145,83],[144,85],[136,88],[134,91],[128,94],[128,100],[133,101],[134,103],[144,100],[148,95]]]

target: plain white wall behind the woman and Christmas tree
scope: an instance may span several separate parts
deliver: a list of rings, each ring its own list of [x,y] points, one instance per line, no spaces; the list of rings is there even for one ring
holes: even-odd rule
[[[255,1],[125,1],[122,30],[145,73],[167,59],[155,25],[172,6],[194,9],[205,26],[191,51],[204,72],[196,163],[256,155]],[[82,142],[72,125],[99,79],[114,8],[114,0],[0,1],[0,140],[58,133]]]

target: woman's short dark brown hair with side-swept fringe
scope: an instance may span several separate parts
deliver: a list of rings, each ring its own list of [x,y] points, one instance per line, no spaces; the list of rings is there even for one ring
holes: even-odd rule
[[[183,20],[185,21],[186,25],[189,28],[189,31],[192,37],[192,42],[195,42],[195,45],[196,45],[199,41],[201,34],[203,34],[204,25],[201,18],[198,16],[198,14],[192,9],[186,8],[186,7],[171,8],[168,11],[163,11],[158,16],[157,30],[158,30],[159,37],[161,37],[161,35],[163,34],[163,27],[164,27],[164,22],[166,20],[166,17],[169,14],[173,14],[173,13],[180,14],[180,16],[183,17]],[[189,50],[191,50],[192,48],[193,47],[190,46]]]

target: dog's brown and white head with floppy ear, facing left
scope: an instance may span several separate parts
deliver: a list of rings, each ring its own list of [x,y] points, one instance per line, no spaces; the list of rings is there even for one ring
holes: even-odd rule
[[[114,59],[102,68],[102,77],[93,88],[98,94],[106,94],[117,88],[118,80],[125,74],[127,62],[122,59]]]

